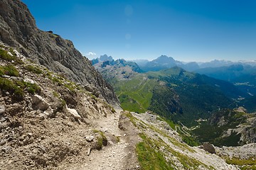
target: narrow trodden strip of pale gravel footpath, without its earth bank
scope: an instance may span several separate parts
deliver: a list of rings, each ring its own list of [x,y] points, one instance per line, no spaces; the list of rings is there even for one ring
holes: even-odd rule
[[[95,125],[96,130],[119,137],[120,141],[103,147],[100,151],[92,150],[90,156],[88,156],[90,157],[90,162],[85,163],[82,169],[124,169],[124,162],[128,154],[125,148],[128,144],[123,138],[122,130],[118,128],[119,114],[120,111],[117,111],[115,115],[107,115],[107,118],[101,118],[92,123]]]

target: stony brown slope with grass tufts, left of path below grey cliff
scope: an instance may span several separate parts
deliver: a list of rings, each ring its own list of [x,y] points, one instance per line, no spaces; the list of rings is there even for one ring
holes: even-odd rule
[[[117,114],[104,99],[2,44],[0,89],[0,169],[66,169],[116,139],[94,123]]]

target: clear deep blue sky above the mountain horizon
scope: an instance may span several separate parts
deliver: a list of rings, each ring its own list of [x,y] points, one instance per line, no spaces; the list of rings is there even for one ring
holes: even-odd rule
[[[254,0],[22,1],[90,59],[256,60]]]

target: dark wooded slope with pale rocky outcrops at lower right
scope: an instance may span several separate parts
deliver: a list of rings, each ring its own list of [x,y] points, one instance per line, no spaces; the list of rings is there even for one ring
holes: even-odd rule
[[[245,109],[215,111],[208,120],[198,120],[192,133],[200,142],[215,146],[238,146],[256,142],[256,115]]]

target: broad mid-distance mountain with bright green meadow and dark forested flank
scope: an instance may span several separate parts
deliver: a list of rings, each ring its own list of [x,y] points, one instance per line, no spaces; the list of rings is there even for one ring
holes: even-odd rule
[[[186,72],[180,67],[146,73],[119,64],[96,64],[95,68],[114,86],[124,110],[150,110],[186,125],[196,123],[197,118],[208,118],[215,109],[232,108],[235,100],[247,96],[227,81]]]

